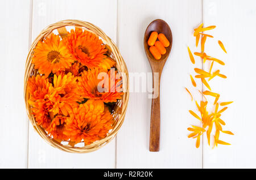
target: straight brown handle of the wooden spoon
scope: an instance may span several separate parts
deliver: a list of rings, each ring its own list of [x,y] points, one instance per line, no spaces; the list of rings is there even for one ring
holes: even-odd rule
[[[153,76],[153,88],[155,78]],[[154,88],[154,95],[155,90],[158,91],[158,96],[156,98],[152,98],[152,105],[151,105],[151,120],[150,120],[150,151],[158,152],[159,151],[159,144],[160,144],[160,77],[158,81],[158,89]],[[154,96],[153,95],[153,96]]]

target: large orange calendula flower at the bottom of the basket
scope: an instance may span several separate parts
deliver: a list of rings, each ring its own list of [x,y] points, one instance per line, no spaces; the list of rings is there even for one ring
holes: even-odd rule
[[[84,139],[85,145],[105,138],[112,129],[113,117],[104,103],[99,100],[88,100],[73,109],[71,117],[67,118],[64,134],[75,143]]]

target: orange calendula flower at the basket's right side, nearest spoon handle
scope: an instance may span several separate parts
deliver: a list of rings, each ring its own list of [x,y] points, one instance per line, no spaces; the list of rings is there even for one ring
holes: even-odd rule
[[[104,74],[100,74],[103,72]],[[112,72],[112,73],[111,73]],[[104,80],[98,79],[98,75]],[[77,83],[79,93],[84,98],[92,98],[94,100],[103,100],[104,102],[116,102],[117,99],[121,99],[123,93],[122,79],[116,78],[117,71],[105,71],[98,68],[84,71],[79,76]],[[100,91],[99,91],[99,88]]]

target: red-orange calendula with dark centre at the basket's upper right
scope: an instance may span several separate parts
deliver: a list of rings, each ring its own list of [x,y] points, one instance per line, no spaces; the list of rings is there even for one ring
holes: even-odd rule
[[[75,31],[71,29],[64,41],[69,53],[88,68],[98,67],[106,57],[104,54],[107,49],[102,40],[92,32],[82,31],[82,28],[75,28]]]

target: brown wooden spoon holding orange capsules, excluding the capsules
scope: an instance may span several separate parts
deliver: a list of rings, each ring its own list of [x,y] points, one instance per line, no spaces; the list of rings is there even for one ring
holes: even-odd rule
[[[166,54],[162,55],[159,60],[156,60],[153,55],[150,53],[150,46],[147,44],[147,40],[151,35],[151,32],[156,31],[158,33],[163,33],[168,41],[170,41],[170,46],[166,48]],[[162,19],[156,19],[151,22],[144,34],[144,50],[147,55],[147,59],[150,62],[152,75],[153,75],[153,88],[154,82],[158,82],[158,87],[156,87],[156,91],[158,91],[158,97],[152,98],[152,105],[151,105],[151,121],[150,121],[150,145],[149,149],[153,152],[159,151],[159,144],[160,144],[160,78],[162,74],[162,70],[166,60],[171,52],[172,48],[172,32],[169,25]],[[154,76],[154,72],[158,72],[158,79]],[[157,89],[158,88],[158,89]],[[153,92],[153,96],[154,93]]]

